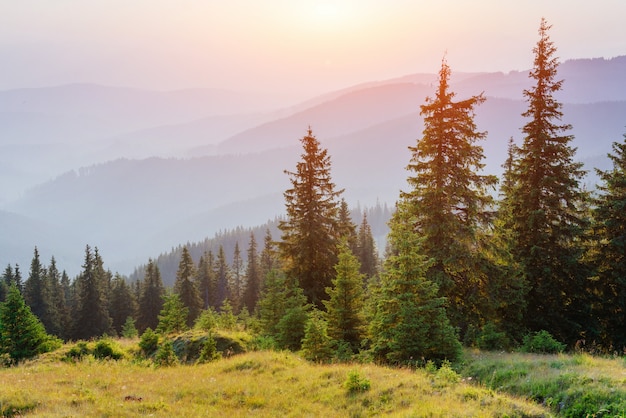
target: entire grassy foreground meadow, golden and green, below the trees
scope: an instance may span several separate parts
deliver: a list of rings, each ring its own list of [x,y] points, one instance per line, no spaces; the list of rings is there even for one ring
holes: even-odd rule
[[[143,355],[138,339],[103,339],[0,368],[0,415],[626,416],[621,357],[466,350],[457,364],[412,370],[315,364],[288,351],[245,352],[248,334],[214,335],[225,357],[202,364],[196,360],[206,333],[189,331],[169,339],[184,360],[172,366]],[[103,341],[118,360],[94,357]]]

